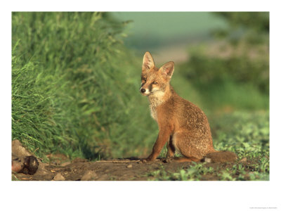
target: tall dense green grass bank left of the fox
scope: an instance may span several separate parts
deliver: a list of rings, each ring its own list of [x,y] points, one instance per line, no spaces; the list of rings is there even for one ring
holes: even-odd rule
[[[152,120],[123,27],[103,13],[13,13],[13,139],[42,157],[143,153]]]

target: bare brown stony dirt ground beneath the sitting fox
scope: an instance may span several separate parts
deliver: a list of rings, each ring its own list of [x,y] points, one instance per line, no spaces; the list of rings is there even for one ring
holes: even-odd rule
[[[31,153],[22,147],[20,141],[12,141],[12,170],[15,162],[25,160]],[[32,155],[33,156],[33,155]],[[47,155],[50,162],[38,160],[38,169],[34,174],[26,171],[12,171],[12,180],[20,181],[147,181],[161,179],[154,172],[160,170],[167,175],[188,170],[192,162],[164,162],[157,159],[154,162],[141,162],[138,158],[99,160],[91,162],[82,158],[70,160],[63,154]],[[226,170],[233,163],[204,163],[204,167],[213,167],[214,171]],[[249,161],[242,165],[251,165]],[[15,170],[15,169],[14,169]],[[172,179],[172,177],[171,177]],[[217,174],[204,174],[200,180],[219,180]]]

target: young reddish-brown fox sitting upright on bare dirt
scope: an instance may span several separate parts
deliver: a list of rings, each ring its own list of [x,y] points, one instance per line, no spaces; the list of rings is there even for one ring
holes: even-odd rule
[[[177,150],[184,156],[174,158],[178,162],[235,162],[235,153],[214,150],[206,115],[176,94],[169,83],[173,73],[174,62],[165,63],[158,69],[149,52],[143,56],[140,91],[148,96],[152,118],[159,127],[152,153],[143,162],[155,160],[165,143],[167,161],[174,158]]]

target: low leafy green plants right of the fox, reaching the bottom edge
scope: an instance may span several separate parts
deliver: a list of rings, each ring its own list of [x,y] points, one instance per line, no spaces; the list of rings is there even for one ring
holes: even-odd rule
[[[238,180],[269,179],[269,113],[232,113],[214,115],[210,118],[214,146],[216,150],[237,153],[238,160],[247,158],[250,163],[245,169],[250,170],[245,177],[241,164],[233,166],[233,174]]]

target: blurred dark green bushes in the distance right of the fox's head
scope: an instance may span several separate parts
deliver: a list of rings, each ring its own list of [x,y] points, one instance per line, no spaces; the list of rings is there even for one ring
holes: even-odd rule
[[[190,51],[190,60],[185,68],[188,79],[195,80],[202,89],[211,84],[222,84],[224,81],[253,84],[256,88],[268,94],[269,91],[269,63],[268,56],[261,53],[251,59],[245,52],[244,55],[233,53],[229,58],[206,56],[203,51]]]

